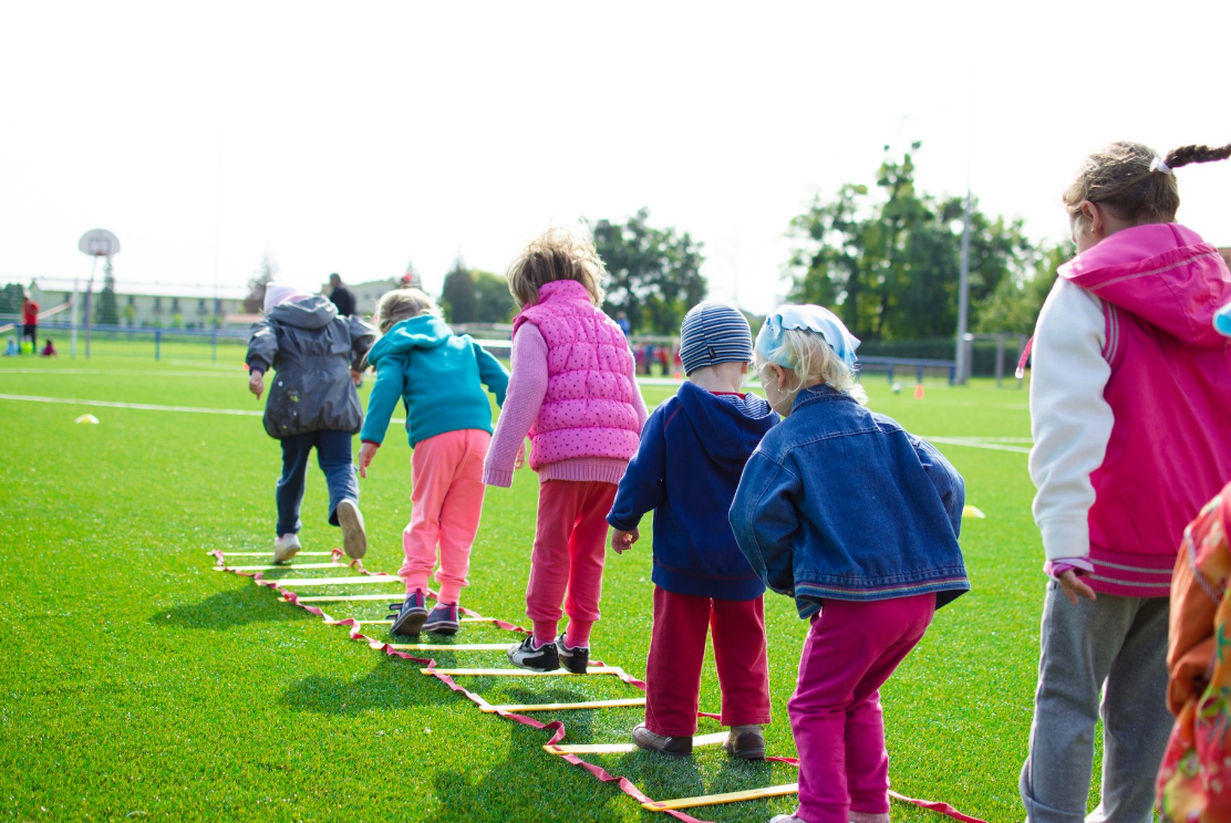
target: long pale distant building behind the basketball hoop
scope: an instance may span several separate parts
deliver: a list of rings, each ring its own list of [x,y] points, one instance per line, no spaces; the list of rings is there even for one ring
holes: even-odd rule
[[[78,300],[85,305],[85,287],[76,282]],[[94,282],[90,299],[91,311],[98,305],[102,293],[101,279]],[[73,279],[66,277],[36,277],[30,292],[43,310],[73,300]],[[246,328],[252,319],[244,314],[243,285],[180,285],[175,283],[124,283],[116,282],[116,312],[119,325],[133,328],[209,328],[217,312],[223,327]],[[214,305],[217,300],[218,305]],[[63,312],[57,321],[69,321],[71,314]],[[85,317],[80,317],[84,322]]]

